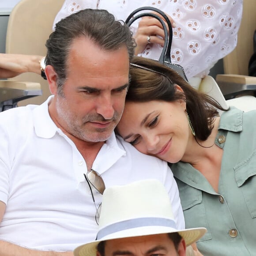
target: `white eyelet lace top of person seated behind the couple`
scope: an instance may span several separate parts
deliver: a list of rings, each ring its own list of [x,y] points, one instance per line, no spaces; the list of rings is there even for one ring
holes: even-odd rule
[[[106,9],[125,20],[136,8],[153,6],[170,15],[175,23],[171,59],[188,78],[203,78],[210,68],[237,45],[242,0],[65,0],[55,22],[85,8]],[[132,32],[136,32],[134,23]],[[141,54],[157,60],[162,47],[147,45]]]

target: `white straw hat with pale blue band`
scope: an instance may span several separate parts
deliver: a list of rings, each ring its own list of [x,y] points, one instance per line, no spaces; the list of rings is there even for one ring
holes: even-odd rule
[[[178,232],[191,245],[205,228],[177,230],[164,185],[157,180],[136,181],[106,188],[95,241],[75,249],[75,256],[96,256],[101,241]]]

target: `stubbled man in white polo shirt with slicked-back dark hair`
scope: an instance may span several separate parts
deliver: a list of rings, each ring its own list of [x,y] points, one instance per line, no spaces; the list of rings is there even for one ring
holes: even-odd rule
[[[147,178],[165,184],[184,228],[166,163],[113,132],[134,54],[128,27],[87,9],[62,19],[46,46],[53,96],[0,113],[0,255],[72,255],[96,236],[104,188]]]

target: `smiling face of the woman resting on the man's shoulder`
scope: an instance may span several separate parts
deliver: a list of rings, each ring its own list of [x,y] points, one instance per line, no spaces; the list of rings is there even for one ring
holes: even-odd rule
[[[144,154],[178,162],[186,151],[191,133],[186,103],[181,100],[126,102],[117,132]]]

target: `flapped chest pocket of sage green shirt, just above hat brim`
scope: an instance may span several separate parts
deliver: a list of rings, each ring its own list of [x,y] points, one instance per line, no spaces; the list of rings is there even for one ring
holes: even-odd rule
[[[184,213],[186,228],[205,227],[207,228],[207,233],[198,241],[212,239],[203,204],[202,191],[192,188],[179,180],[177,180],[177,184],[180,192],[181,206]]]

